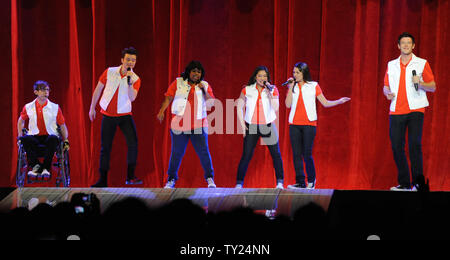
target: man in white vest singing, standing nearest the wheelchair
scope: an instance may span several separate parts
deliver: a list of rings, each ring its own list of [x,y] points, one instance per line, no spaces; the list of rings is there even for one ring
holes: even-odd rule
[[[100,113],[103,115],[103,118],[101,127],[100,178],[92,187],[108,186],[109,161],[117,127],[125,135],[128,146],[125,184],[142,184],[142,180],[138,179],[134,173],[137,163],[138,140],[136,125],[131,113],[131,104],[136,99],[141,86],[141,79],[133,72],[136,58],[137,50],[135,48],[125,48],[122,51],[122,64],[118,67],[106,69],[100,76],[97,87],[93,92],[89,119],[92,122],[95,120],[95,107],[99,99]]]

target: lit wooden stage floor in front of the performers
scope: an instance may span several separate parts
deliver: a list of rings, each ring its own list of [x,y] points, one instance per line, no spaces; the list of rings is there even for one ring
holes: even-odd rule
[[[75,193],[94,193],[100,200],[101,210],[126,197],[143,200],[150,208],[158,208],[176,199],[189,199],[208,212],[229,211],[236,207],[249,207],[255,211],[271,210],[272,214],[292,216],[310,202],[328,210],[334,190],[280,190],[234,188],[17,188],[0,201],[5,212],[16,207],[28,207],[29,203],[46,202],[56,205],[70,201]],[[35,198],[34,200],[32,200]],[[37,200],[36,200],[37,199]]]

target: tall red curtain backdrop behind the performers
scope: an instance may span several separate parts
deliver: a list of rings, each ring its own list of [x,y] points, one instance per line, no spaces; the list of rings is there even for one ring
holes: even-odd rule
[[[0,14],[0,47],[5,54],[0,65],[0,114],[5,122],[0,130],[0,186],[15,185],[17,118],[23,105],[34,99],[32,85],[38,79],[51,84],[50,99],[60,104],[66,118],[72,186],[95,182],[101,116],[89,121],[92,91],[107,67],[120,65],[121,50],[134,46],[139,51],[135,72],[142,79],[133,103],[137,176],[144,187],[162,187],[166,180],[170,109],[162,124],[156,114],[168,85],[195,59],[203,63],[205,80],[224,105],[239,96],[257,65],[269,68],[280,89],[280,149],[287,184],[294,183],[295,173],[281,83],[296,62],[308,63],[328,99],[352,98],[334,108],[318,105],[317,187],[387,189],[396,184],[397,173],[383,77],[387,62],[399,56],[397,36],[408,31],[416,36],[415,54],[430,62],[437,83],[425,114],[425,175],[432,190],[450,190],[450,1],[11,0],[3,3]],[[233,187],[242,136],[213,134],[209,146],[217,185]],[[118,131],[111,186],[124,185],[126,151]],[[190,144],[179,176],[177,187],[206,186]],[[274,185],[270,154],[258,146],[246,187]]]

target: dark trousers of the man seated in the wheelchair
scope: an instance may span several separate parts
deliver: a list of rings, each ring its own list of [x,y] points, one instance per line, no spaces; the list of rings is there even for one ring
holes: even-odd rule
[[[40,153],[38,152],[38,149],[40,145],[44,145],[44,162],[39,171],[42,172],[44,169],[47,169],[48,171],[51,170],[53,155],[59,144],[59,138],[56,135],[25,135],[20,137],[20,141],[27,153],[28,165],[30,167],[39,164],[38,156]]]

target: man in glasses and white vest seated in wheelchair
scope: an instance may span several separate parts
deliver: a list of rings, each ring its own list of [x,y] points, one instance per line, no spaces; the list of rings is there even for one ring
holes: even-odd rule
[[[27,154],[28,165],[32,169],[28,172],[30,177],[50,177],[53,155],[60,144],[59,138],[64,140],[66,148],[69,146],[68,131],[65,125],[61,108],[52,103],[48,96],[50,86],[47,82],[38,80],[33,85],[36,99],[26,104],[17,121],[19,140]],[[25,122],[28,122],[28,133],[24,133]],[[60,133],[59,133],[59,129]],[[38,160],[38,148],[45,146],[44,161]]]

